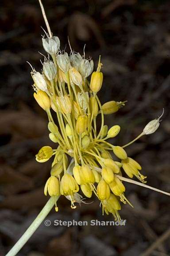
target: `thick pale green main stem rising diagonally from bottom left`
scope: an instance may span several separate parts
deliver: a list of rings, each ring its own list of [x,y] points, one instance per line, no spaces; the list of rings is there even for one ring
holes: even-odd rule
[[[42,223],[42,221],[46,218],[50,210],[53,208],[54,204],[58,200],[59,196],[51,196],[44,208],[42,208],[39,215],[35,218],[35,220],[32,222],[30,227],[26,230],[26,232],[21,236],[21,238],[18,240],[18,242],[12,247],[12,249],[7,253],[6,256],[15,256],[20,249],[24,246],[24,244],[27,243],[27,240],[30,239],[30,237],[33,235],[33,233],[36,231],[36,229],[39,227],[39,225]]]

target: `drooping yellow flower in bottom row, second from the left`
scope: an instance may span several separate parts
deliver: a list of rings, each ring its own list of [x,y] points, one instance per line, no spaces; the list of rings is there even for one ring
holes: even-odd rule
[[[78,192],[79,187],[77,182],[74,180],[73,176],[66,173],[62,176],[60,192],[64,196],[73,195],[73,193]]]

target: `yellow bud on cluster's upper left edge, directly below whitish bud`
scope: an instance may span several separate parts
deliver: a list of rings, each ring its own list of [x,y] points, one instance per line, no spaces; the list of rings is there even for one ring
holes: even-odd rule
[[[41,108],[43,108],[44,110],[50,108],[50,98],[46,94],[46,92],[39,90],[37,93],[34,93],[34,97]]]

